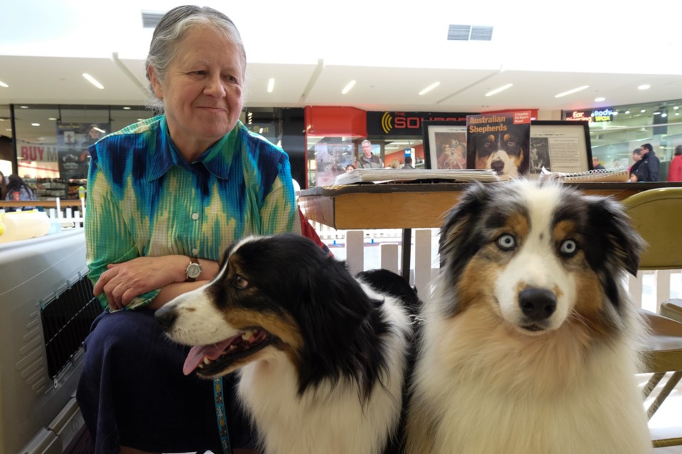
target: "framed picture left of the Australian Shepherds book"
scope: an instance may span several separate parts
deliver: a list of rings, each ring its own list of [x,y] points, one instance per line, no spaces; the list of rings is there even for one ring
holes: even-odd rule
[[[424,161],[427,169],[467,168],[467,124],[465,121],[421,122]]]

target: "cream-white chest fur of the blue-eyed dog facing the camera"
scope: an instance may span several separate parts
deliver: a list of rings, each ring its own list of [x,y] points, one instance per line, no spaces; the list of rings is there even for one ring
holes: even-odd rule
[[[422,409],[438,421],[431,454],[651,452],[627,341],[583,356],[557,348],[548,358],[524,358],[524,350],[496,345],[494,333],[443,345],[455,334],[438,324],[416,371]]]

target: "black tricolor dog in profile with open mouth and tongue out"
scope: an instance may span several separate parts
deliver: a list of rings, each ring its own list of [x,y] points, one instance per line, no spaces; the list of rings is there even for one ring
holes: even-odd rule
[[[185,373],[239,370],[266,454],[398,452],[413,289],[384,270],[357,279],[302,236],[249,237],[212,281],[156,312],[192,348]],[[400,433],[399,433],[400,432]]]

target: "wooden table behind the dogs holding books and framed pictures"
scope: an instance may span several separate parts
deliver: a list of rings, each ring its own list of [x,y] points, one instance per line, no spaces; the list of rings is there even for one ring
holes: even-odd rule
[[[682,182],[570,185],[587,194],[622,200],[647,189],[682,187]],[[402,272],[409,277],[411,229],[440,227],[445,213],[458,202],[465,187],[467,183],[348,184],[303,189],[298,200],[308,219],[338,230],[403,229]]]

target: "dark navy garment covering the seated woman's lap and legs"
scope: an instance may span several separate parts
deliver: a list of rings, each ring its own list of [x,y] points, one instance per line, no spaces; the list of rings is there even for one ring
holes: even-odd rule
[[[97,454],[125,445],[165,453],[221,453],[212,380],[183,375],[188,348],[171,342],[153,311],[104,312],[85,340],[76,398]],[[251,447],[237,402],[236,377],[224,377],[233,448]]]

